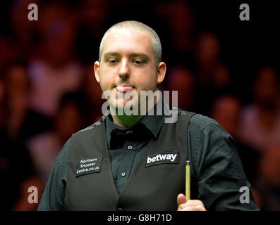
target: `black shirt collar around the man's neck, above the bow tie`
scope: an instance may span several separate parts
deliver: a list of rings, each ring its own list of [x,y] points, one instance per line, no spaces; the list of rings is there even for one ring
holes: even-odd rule
[[[162,101],[162,99],[159,99],[159,101]],[[163,104],[164,102],[162,101],[162,105]],[[157,105],[158,103],[155,104],[154,107],[145,116],[141,117],[141,119],[138,120],[138,122],[136,122],[135,124],[133,124],[133,126],[130,128],[120,127],[118,126],[118,124],[114,124],[111,115],[107,115],[105,121],[106,121],[106,139],[107,139],[108,146],[111,146],[111,131],[114,131],[116,129],[123,130],[123,131],[134,129],[134,128],[137,129],[139,123],[143,124],[144,127],[150,131],[150,133],[154,138],[157,138],[159,131],[162,128],[162,124],[164,123],[164,117],[165,117],[164,113],[161,113],[161,115],[156,114]],[[152,111],[153,111],[153,115],[149,115],[152,114]]]

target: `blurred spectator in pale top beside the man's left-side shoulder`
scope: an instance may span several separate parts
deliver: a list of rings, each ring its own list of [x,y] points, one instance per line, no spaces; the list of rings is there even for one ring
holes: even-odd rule
[[[28,142],[32,159],[44,185],[63,143],[83,127],[83,115],[78,101],[79,97],[75,94],[63,95],[54,119],[54,129],[39,134]]]

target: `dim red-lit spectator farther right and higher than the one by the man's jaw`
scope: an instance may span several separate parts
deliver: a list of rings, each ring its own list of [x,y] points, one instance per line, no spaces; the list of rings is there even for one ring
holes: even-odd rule
[[[209,115],[214,100],[229,93],[231,77],[229,68],[220,58],[219,39],[212,32],[203,32],[195,51],[197,62],[197,99],[195,111]]]

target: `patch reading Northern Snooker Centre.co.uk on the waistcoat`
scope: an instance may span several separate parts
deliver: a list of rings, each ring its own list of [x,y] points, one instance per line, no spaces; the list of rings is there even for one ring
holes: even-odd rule
[[[101,172],[101,163],[102,157],[80,160],[75,170],[75,177]]]

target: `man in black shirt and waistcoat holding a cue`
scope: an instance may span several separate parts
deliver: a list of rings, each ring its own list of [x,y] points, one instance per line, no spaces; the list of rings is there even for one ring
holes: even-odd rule
[[[170,122],[166,103],[150,115],[162,100],[141,97],[164,80],[161,55],[159,37],[142,23],[118,23],[104,34],[94,68],[111,115],[66,142],[38,210],[258,210],[251,191],[250,203],[241,203],[239,190],[250,184],[217,122],[181,110]],[[131,108],[138,110],[129,115]],[[183,194],[186,160],[191,200]]]

